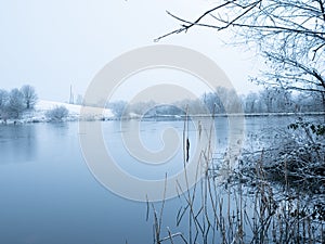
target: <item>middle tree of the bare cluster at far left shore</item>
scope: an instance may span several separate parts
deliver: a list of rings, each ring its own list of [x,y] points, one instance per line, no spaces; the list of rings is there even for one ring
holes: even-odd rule
[[[9,101],[6,105],[9,116],[12,118],[18,118],[24,110],[24,94],[17,88],[11,90],[11,92],[9,93]]]

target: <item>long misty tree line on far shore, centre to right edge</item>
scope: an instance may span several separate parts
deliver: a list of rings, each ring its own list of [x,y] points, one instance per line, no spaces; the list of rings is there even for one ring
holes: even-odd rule
[[[154,100],[128,104],[126,101],[108,103],[117,118],[128,117],[130,114],[155,117],[184,115],[185,107],[192,115],[206,113],[231,114],[244,112],[246,114],[261,113],[310,113],[325,112],[323,97],[315,92],[295,92],[275,87],[268,87],[260,91],[239,97],[233,89],[218,87],[216,92],[207,92],[196,100],[180,100],[171,104],[158,104]],[[240,107],[238,107],[240,106]]]

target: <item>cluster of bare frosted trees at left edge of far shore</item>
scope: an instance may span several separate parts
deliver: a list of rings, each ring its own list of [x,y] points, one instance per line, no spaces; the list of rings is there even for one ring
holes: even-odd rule
[[[0,119],[20,118],[25,111],[32,110],[37,101],[38,95],[30,85],[10,91],[0,89]]]

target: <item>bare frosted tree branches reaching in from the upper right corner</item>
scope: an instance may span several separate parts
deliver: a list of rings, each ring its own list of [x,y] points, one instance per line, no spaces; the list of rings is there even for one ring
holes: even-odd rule
[[[325,107],[324,0],[217,0],[194,20],[170,12],[180,28],[159,37],[206,27],[236,34],[264,57],[266,68],[253,79],[286,90],[320,93]]]

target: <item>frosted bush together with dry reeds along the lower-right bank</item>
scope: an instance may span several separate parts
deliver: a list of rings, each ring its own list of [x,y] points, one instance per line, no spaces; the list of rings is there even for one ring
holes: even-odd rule
[[[147,203],[154,243],[323,244],[325,134],[313,125],[298,118],[268,137],[247,136],[234,168],[229,155],[204,150],[202,180],[192,189],[177,185],[178,209],[166,200]],[[174,220],[166,222],[166,215]]]

